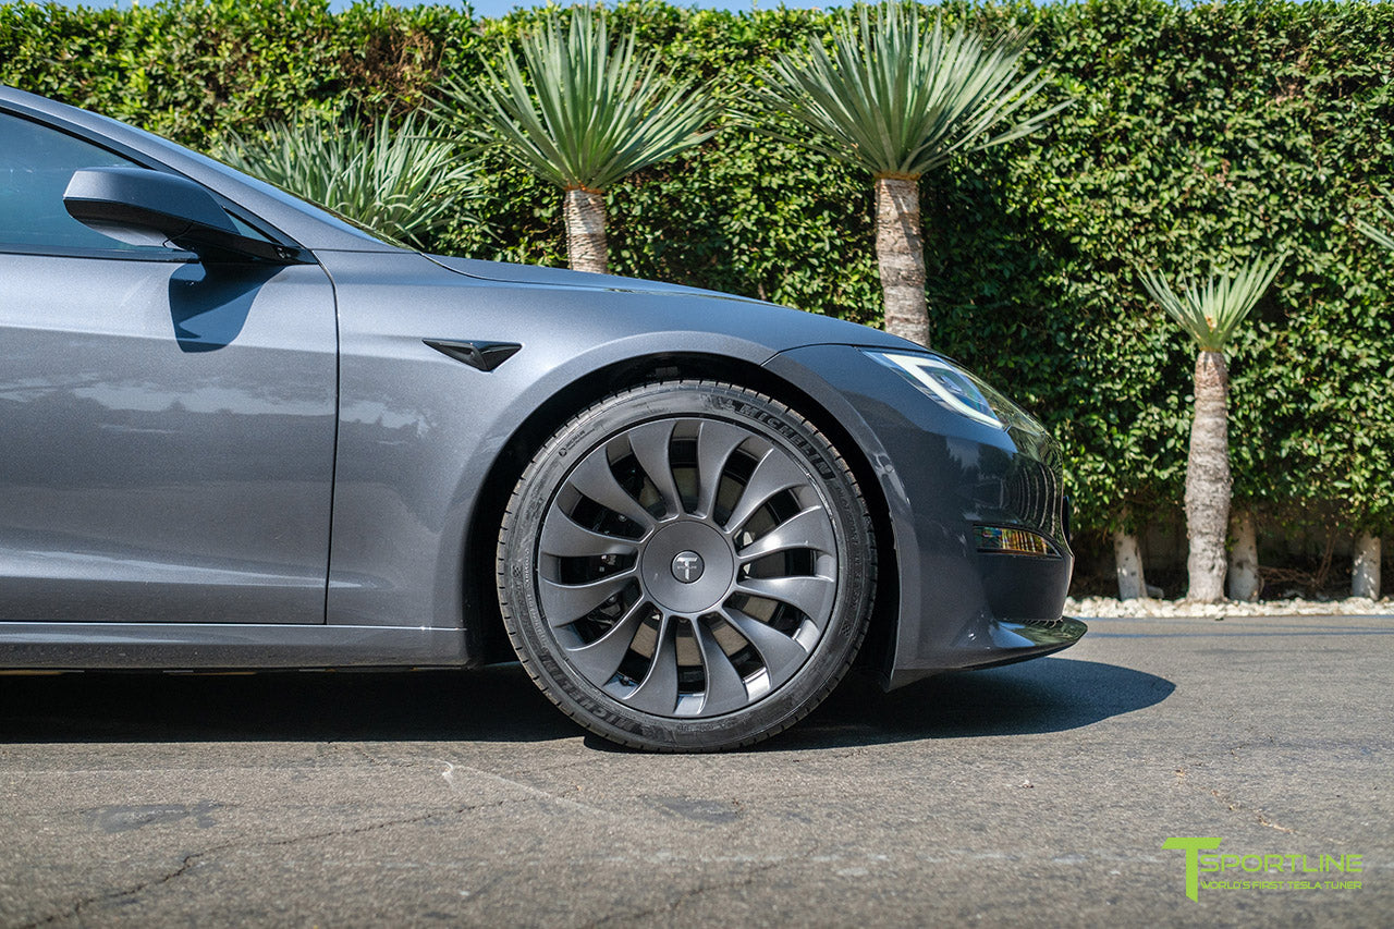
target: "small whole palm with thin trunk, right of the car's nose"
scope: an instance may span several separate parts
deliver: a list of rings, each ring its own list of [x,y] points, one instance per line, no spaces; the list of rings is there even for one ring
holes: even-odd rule
[[[1190,554],[1188,600],[1224,600],[1225,529],[1230,523],[1230,370],[1224,352],[1239,324],[1278,276],[1282,257],[1256,257],[1231,273],[1189,282],[1177,293],[1157,272],[1142,272],[1142,285],[1161,308],[1196,340],[1190,453],[1186,459],[1186,536]]]

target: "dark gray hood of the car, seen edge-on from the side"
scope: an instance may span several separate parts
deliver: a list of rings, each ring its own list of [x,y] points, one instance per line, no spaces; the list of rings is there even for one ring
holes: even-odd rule
[[[619,318],[625,314],[637,314],[631,325],[620,325],[629,332],[654,328],[684,329],[690,328],[696,318],[701,319],[701,328],[753,339],[775,352],[803,345],[857,345],[923,352],[919,346],[881,329],[717,290],[539,265],[514,265],[443,255],[427,255],[427,258],[447,271],[478,280],[558,287],[570,292],[608,292],[616,297],[645,294],[673,299],[672,301],[664,300],[665,307],[655,305],[652,301],[634,304],[630,300],[616,300],[608,304],[609,314],[606,315]],[[690,305],[693,300],[717,303],[707,303],[707,310],[693,314]],[[618,319],[612,319],[612,322],[618,322]]]

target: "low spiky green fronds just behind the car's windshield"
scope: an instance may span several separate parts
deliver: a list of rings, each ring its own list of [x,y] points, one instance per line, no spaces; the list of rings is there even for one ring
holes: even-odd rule
[[[357,119],[344,124],[296,119],[269,126],[261,139],[234,135],[217,156],[369,229],[417,244],[468,192],[473,177],[453,146],[427,135],[415,114],[397,128],[386,116],[371,127]]]

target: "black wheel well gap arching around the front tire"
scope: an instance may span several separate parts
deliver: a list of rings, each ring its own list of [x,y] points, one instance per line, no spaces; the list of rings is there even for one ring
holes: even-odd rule
[[[643,356],[592,371],[552,395],[509,437],[480,488],[480,502],[470,522],[464,545],[464,615],[461,619],[467,653],[477,664],[514,658],[503,629],[503,617],[499,612],[495,589],[495,554],[505,506],[537,451],[573,416],[611,393],[651,381],[680,378],[729,381],[760,391],[809,418],[832,439],[846,459],[871,511],[877,558],[881,565],[877,572],[871,628],[859,663],[870,664],[875,670],[885,667],[889,660],[889,647],[895,642],[898,621],[898,552],[891,534],[889,506],[881,481],[877,480],[861,446],[822,405],[788,381],[772,375],[768,370],[737,358],[697,353]]]

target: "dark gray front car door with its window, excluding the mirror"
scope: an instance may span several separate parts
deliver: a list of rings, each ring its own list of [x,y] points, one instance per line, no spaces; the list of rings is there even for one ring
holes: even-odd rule
[[[0,622],[323,622],[333,287],[71,219],[99,142],[0,110]]]

